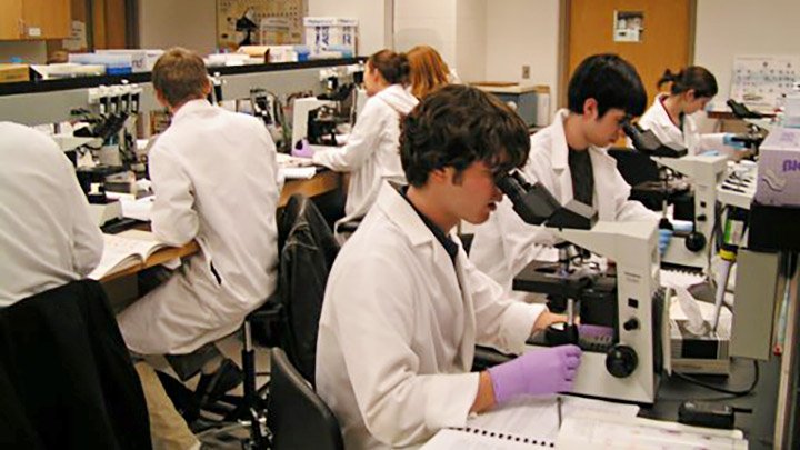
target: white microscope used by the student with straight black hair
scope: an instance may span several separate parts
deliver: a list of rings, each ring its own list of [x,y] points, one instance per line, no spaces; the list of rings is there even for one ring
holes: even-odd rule
[[[626,122],[626,134],[637,151],[650,157],[660,168],[664,186],[667,170],[682,174],[691,180],[693,188],[693,229],[689,232],[677,231],[661,261],[668,264],[708,271],[711,234],[714,227],[717,186],[726,177],[728,158],[723,156],[687,156],[687,149],[674,149],[659,141],[651,130],[642,130],[639,124]],[[661,228],[670,228],[667,219],[667,197],[662,207]]]

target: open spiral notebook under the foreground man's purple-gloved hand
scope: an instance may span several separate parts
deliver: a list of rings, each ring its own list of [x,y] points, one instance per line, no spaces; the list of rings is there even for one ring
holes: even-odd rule
[[[561,419],[582,411],[633,418],[639,407],[578,397],[561,397]],[[466,428],[440,430],[424,450],[531,450],[554,448],[559,433],[556,397],[522,397],[471,417]]]

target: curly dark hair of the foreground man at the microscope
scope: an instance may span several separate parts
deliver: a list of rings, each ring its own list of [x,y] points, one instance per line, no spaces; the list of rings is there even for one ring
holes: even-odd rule
[[[474,161],[492,170],[522,167],[530,138],[524,121],[497,97],[451,84],[426,97],[401,122],[400,160],[413,187],[452,167],[456,181]]]

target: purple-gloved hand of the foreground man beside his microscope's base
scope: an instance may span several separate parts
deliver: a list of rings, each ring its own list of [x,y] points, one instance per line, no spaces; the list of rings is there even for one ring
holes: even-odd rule
[[[521,393],[542,396],[569,391],[580,358],[581,349],[568,344],[529,351],[494,366],[489,369],[494,400],[503,403]]]

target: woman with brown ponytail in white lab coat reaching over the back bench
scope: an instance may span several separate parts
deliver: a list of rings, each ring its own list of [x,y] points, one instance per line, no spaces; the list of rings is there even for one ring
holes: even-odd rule
[[[350,172],[344,218],[337,222],[337,231],[340,223],[367,214],[382,180],[406,182],[398,152],[400,118],[417,104],[417,98],[406,90],[408,77],[404,54],[381,50],[369,57],[364,69],[369,99],[347,144],[313,153],[313,162]]]

